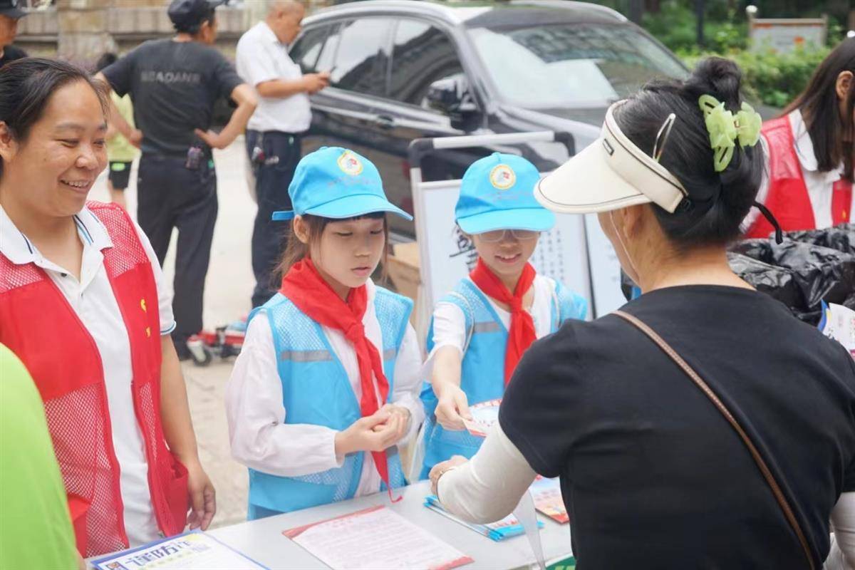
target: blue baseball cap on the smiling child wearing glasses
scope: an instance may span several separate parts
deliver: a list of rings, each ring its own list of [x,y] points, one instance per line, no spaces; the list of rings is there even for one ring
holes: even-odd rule
[[[454,209],[457,225],[470,234],[550,230],[555,214],[534,198],[539,180],[537,168],[522,156],[495,152],[473,162],[460,185]]]

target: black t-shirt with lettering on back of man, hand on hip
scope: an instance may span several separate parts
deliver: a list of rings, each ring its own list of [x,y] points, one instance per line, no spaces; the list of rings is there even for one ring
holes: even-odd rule
[[[143,152],[186,156],[193,129],[207,130],[214,104],[243,83],[231,63],[198,42],[145,42],[103,70],[119,95],[131,94]]]

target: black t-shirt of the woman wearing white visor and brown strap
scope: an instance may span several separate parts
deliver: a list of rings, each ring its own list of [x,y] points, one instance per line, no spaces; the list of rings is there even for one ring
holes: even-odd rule
[[[623,307],[740,421],[775,473],[817,567],[828,515],[855,491],[855,363],[762,293],[651,291]],[[523,356],[499,421],[561,476],[580,570],[805,568],[745,444],[652,340],[615,315],[571,320]]]

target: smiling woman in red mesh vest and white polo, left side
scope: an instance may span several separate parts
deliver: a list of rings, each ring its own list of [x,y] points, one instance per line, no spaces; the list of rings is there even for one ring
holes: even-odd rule
[[[86,202],[108,101],[68,63],[0,73],[0,343],[44,400],[84,556],[181,532],[191,506],[192,527],[215,513],[160,266],[124,210]]]

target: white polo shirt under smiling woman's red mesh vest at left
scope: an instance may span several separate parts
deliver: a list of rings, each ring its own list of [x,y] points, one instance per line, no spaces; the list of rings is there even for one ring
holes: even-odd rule
[[[113,288],[109,284],[103,265],[102,250],[113,247],[107,229],[95,214],[84,207],[74,216],[80,242],[83,244],[83,261],[80,281],[67,269],[45,259],[36,246],[15,227],[9,215],[0,206],[0,253],[15,265],[34,263],[44,269],[65,296],[74,313],[97,345],[103,363],[104,385],[107,391],[110,426],[113,432],[113,449],[121,470],[121,499],[125,508],[125,530],[131,546],[144,544],[159,536],[148,482],[148,463],[145,459],[143,436],[133,411],[131,394],[131,344],[127,337],[125,321],[121,317]],[[163,279],[160,264],[143,231],[134,224],[139,241],[149,257],[155,275],[157,304],[160,309],[161,334],[175,328],[172,314],[172,293]],[[62,362],[56,363],[57,367]],[[93,410],[94,411],[94,410]]]

